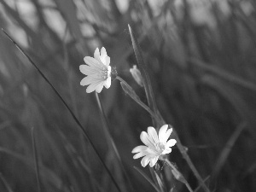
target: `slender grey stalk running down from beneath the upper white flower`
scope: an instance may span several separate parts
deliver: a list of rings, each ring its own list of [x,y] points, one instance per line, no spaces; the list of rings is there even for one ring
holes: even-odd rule
[[[104,131],[104,133],[105,133],[105,136],[107,137],[107,140],[109,141],[111,147],[113,148],[114,153],[115,153],[116,156],[117,156],[117,159],[118,159],[118,161],[119,161],[119,166],[121,167],[122,171],[123,171],[124,174],[125,174],[125,178],[126,178],[126,180],[128,181],[128,185],[131,187],[131,190],[134,191],[134,189],[133,189],[133,187],[132,187],[132,184],[131,184],[131,180],[130,180],[130,178],[128,177],[127,172],[125,171],[125,166],[124,166],[124,164],[123,164],[123,162],[122,162],[122,160],[121,160],[121,157],[120,157],[120,155],[119,155],[119,151],[118,151],[118,149],[117,149],[117,147],[116,147],[116,144],[115,144],[114,141],[113,141],[113,137],[112,137],[111,134],[110,134],[109,125],[108,125],[108,119],[107,119],[106,114],[105,114],[105,112],[104,112],[104,110],[103,110],[101,98],[100,98],[100,96],[99,96],[97,93],[95,93],[95,94],[96,94],[96,101],[97,101],[97,103],[98,103],[98,107],[99,107],[99,109],[100,109],[101,116],[102,116],[102,123],[103,123],[103,127],[104,127],[103,131]]]

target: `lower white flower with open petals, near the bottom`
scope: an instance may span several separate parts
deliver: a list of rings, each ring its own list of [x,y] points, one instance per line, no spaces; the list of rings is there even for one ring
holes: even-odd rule
[[[175,145],[176,140],[168,138],[172,133],[172,128],[168,129],[168,125],[163,125],[160,128],[159,134],[155,131],[154,127],[148,127],[148,133],[143,131],[141,133],[141,140],[146,145],[137,146],[133,148],[131,153],[137,153],[133,156],[133,159],[143,157],[141,163],[145,167],[148,165],[153,167],[160,156],[164,154],[170,154],[172,152],[172,146]]]

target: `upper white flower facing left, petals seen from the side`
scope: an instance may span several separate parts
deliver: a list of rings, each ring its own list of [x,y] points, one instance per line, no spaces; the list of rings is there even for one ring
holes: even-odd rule
[[[82,86],[90,84],[86,92],[90,93],[96,90],[97,93],[100,93],[103,86],[108,89],[111,85],[111,67],[109,66],[110,57],[107,55],[106,49],[102,47],[100,54],[97,48],[94,52],[94,58],[85,56],[84,62],[87,65],[80,65],[79,69],[81,73],[87,75],[80,84]]]

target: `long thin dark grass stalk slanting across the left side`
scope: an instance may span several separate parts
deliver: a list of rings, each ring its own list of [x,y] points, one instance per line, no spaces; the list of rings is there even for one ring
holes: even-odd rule
[[[97,151],[96,145],[92,142],[92,140],[90,139],[90,137],[89,137],[89,135],[87,134],[87,132],[84,131],[83,125],[80,123],[79,119],[78,119],[78,118],[76,117],[76,115],[73,113],[73,111],[71,110],[71,108],[69,108],[69,106],[67,105],[67,102],[65,102],[65,100],[63,99],[63,97],[61,96],[61,94],[55,89],[54,85],[49,82],[49,79],[47,79],[47,78],[45,77],[44,73],[38,68],[38,66],[35,64],[35,62],[32,61],[32,59],[31,59],[28,55],[26,55],[26,53],[23,51],[23,49],[20,48],[20,45],[17,44],[17,43],[15,42],[15,40],[14,40],[13,38],[11,38],[11,37],[9,36],[9,34],[3,30],[3,28],[2,28],[2,31],[3,31],[4,34],[9,38],[9,40],[10,40],[11,42],[13,42],[13,44],[15,44],[16,48],[20,50],[20,52],[26,57],[26,59],[27,59],[28,61],[30,61],[30,63],[32,64],[32,66],[35,67],[35,68],[38,70],[38,73],[43,77],[43,79],[46,81],[46,83],[49,84],[50,88],[51,88],[52,90],[54,90],[56,96],[59,97],[59,99],[61,100],[61,102],[62,102],[62,103],[64,104],[64,106],[67,108],[67,111],[72,115],[74,121],[77,123],[77,125],[79,125],[80,131],[82,131],[84,137],[87,138],[87,140],[89,141],[91,147],[94,149],[94,151],[95,151],[96,155],[98,156],[99,160],[102,162],[102,165],[104,166],[104,168],[105,168],[106,171],[108,172],[109,177],[111,177],[111,179],[112,179],[112,181],[113,181],[113,184],[114,184],[115,187],[119,190],[119,192],[121,192],[121,189],[119,188],[119,184],[115,181],[115,179],[114,179],[112,173],[111,173],[111,172],[109,171],[109,169],[108,169],[108,166],[105,164],[104,160],[102,159],[102,156],[101,156],[101,155],[99,154],[99,152]]]

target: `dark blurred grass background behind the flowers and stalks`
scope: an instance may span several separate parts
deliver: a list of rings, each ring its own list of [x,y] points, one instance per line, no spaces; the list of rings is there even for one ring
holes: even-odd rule
[[[129,72],[137,64],[128,24],[143,50],[156,102],[211,191],[256,190],[256,3],[252,0],[0,0],[0,24],[73,109],[122,191],[155,191],[132,148],[152,125],[114,80],[100,97],[125,171],[104,133],[94,93],[79,82],[84,56],[107,49],[143,102]],[[0,191],[117,191],[90,143],[49,84],[0,34]],[[170,160],[198,183],[177,148]],[[166,170],[160,165],[160,170]],[[164,191],[188,191],[167,174]],[[197,191],[203,191],[199,189]]]

